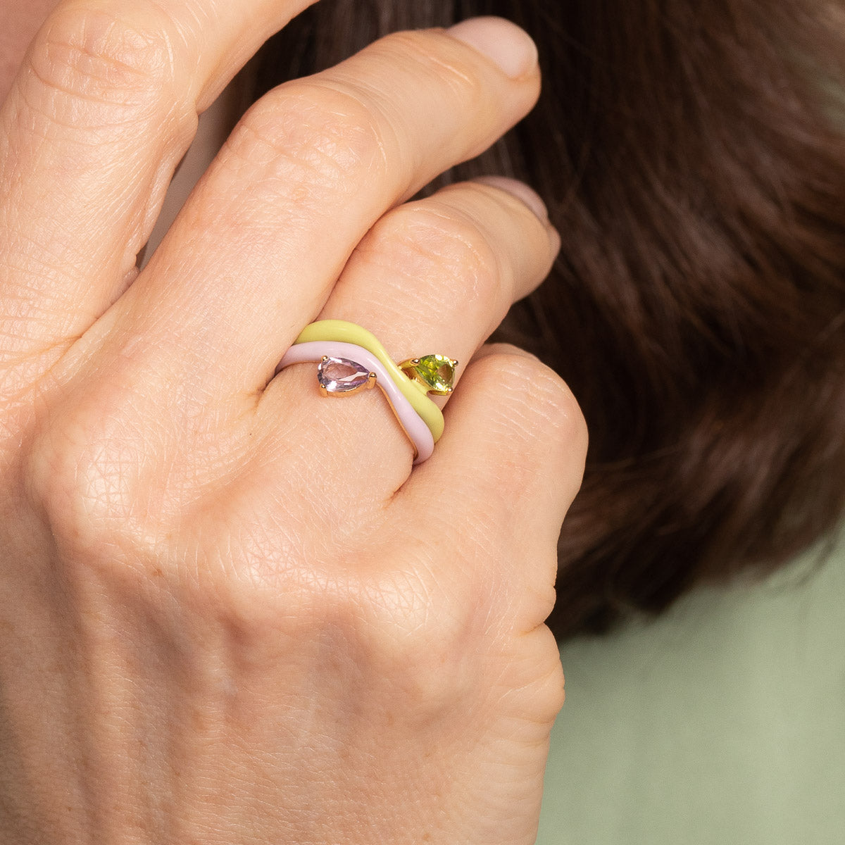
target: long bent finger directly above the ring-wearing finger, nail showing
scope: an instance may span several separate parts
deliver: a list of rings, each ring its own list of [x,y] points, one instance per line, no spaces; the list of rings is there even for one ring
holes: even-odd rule
[[[384,210],[536,100],[528,36],[499,19],[472,23],[499,33],[500,63],[466,29],[463,41],[405,32],[264,97],[118,303],[117,342],[143,336],[186,378],[203,373],[207,392],[262,390]]]

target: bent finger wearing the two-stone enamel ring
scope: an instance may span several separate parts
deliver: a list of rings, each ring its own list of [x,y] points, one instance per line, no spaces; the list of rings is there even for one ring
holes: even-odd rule
[[[490,179],[450,186],[384,215],[358,245],[319,316],[363,325],[397,362],[433,353],[456,358],[460,379],[461,363],[511,303],[548,274],[558,245],[542,202],[525,185]],[[270,436],[284,430],[313,472],[320,464],[320,477],[346,472],[395,490],[407,477],[413,446],[387,401],[323,401],[314,365],[298,370],[281,373],[264,394]],[[292,391],[303,401],[280,428]],[[335,448],[315,458],[309,445],[329,432]]]

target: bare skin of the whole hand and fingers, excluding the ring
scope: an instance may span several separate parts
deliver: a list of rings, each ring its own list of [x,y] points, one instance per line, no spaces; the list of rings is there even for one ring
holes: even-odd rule
[[[559,240],[515,183],[406,201],[532,107],[525,36],[271,92],[136,266],[197,114],[302,6],[65,0],[10,83],[0,842],[534,841],[586,430],[483,341]],[[429,461],[379,391],[274,378],[314,319],[461,361]]]

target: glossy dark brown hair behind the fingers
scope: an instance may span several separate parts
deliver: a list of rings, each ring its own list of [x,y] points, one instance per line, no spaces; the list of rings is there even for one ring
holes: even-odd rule
[[[444,179],[525,179],[563,237],[497,339],[553,366],[586,415],[550,624],[599,632],[769,571],[845,510],[845,8],[323,0],[259,57],[256,93],[474,14],[533,35],[544,90]]]

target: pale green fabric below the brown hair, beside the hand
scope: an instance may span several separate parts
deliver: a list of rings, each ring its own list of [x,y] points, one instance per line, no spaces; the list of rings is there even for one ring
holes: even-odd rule
[[[845,542],[561,658],[539,845],[845,845]]]

